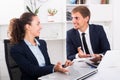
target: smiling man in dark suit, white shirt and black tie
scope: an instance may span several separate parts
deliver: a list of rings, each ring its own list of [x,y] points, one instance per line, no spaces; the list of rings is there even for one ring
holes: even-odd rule
[[[67,31],[67,58],[73,60],[92,56],[95,61],[100,61],[110,50],[103,26],[89,24],[90,11],[85,6],[75,7],[71,16],[74,28]]]

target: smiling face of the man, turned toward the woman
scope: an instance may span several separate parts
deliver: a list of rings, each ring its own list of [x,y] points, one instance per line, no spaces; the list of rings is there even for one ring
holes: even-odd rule
[[[84,28],[88,23],[88,17],[83,18],[83,16],[79,13],[72,13],[72,22],[74,25],[74,29],[82,29]]]

